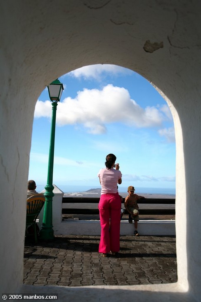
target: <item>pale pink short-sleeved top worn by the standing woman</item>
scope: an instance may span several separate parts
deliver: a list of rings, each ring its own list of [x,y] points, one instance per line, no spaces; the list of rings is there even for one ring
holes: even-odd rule
[[[121,171],[116,169],[100,169],[98,177],[101,181],[101,194],[118,193],[118,180],[122,177]]]

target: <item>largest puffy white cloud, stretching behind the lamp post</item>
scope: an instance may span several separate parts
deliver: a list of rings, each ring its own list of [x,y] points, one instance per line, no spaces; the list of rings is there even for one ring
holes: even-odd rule
[[[35,117],[50,117],[51,103],[37,101]],[[82,124],[89,133],[106,132],[106,124],[121,122],[135,127],[161,126],[164,116],[152,106],[141,108],[123,87],[106,85],[102,90],[86,89],[76,98],[65,98],[57,107],[57,124]]]

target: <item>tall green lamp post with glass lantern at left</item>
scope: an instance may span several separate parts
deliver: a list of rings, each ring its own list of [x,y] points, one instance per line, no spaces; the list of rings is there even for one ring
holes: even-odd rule
[[[52,198],[54,196],[52,185],[53,181],[53,166],[54,166],[54,149],[55,149],[55,125],[56,125],[56,110],[57,103],[61,99],[61,94],[64,90],[63,84],[56,79],[48,86],[49,98],[52,101],[52,124],[49,144],[49,162],[48,162],[48,175],[47,185],[45,186],[46,192],[44,196],[46,198],[44,206],[44,214],[42,220],[42,229],[40,231],[41,239],[53,239],[54,230],[52,225]]]

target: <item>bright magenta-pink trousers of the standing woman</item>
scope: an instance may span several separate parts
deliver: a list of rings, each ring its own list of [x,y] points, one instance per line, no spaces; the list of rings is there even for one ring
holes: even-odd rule
[[[99,253],[120,249],[121,199],[118,193],[102,194],[99,201],[101,238]]]

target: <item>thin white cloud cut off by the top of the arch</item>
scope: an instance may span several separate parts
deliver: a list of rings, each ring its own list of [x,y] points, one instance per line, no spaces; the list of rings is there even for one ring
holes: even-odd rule
[[[81,68],[69,72],[67,75],[74,76],[75,78],[83,77],[84,79],[93,78],[96,80],[100,80],[101,75],[104,74],[105,72],[114,75],[132,73],[130,69],[126,69],[121,66],[111,65],[111,64],[96,64],[96,65],[83,66]]]

